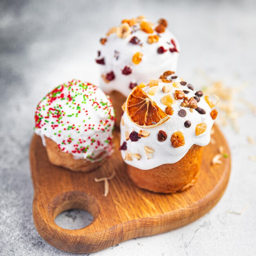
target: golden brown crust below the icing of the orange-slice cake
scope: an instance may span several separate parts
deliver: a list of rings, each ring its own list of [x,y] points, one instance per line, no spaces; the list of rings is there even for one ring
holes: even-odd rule
[[[180,161],[150,170],[128,165],[132,181],[142,189],[159,193],[175,193],[193,186],[200,174],[203,147],[193,145]]]

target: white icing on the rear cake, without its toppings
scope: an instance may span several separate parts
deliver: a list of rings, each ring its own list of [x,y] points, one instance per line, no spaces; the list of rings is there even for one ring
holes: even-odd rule
[[[157,25],[153,25],[153,29]],[[104,58],[105,61],[105,65],[100,65],[101,74],[111,71],[115,74],[115,79],[108,83],[101,77],[100,87],[107,94],[116,90],[127,97],[131,92],[129,88],[131,82],[137,84],[145,83],[149,77],[158,78],[163,70],[176,71],[180,45],[171,31],[166,28],[164,33],[159,34],[160,37],[157,43],[149,44],[147,43],[148,36],[156,35],[156,31],[153,34],[147,34],[139,28],[139,24],[135,25],[135,32],[126,38],[119,38],[115,33],[110,34],[105,45],[101,45],[101,55],[97,58]],[[129,43],[133,36],[139,38],[142,46]],[[171,39],[175,41],[178,52],[171,53],[169,51],[169,48],[173,47]],[[158,54],[157,49],[160,46],[163,46],[167,51],[163,54]],[[119,53],[118,59],[115,58],[116,51]],[[142,61],[135,65],[132,63],[132,56],[137,52],[141,52],[143,57]],[[132,73],[129,75],[122,74],[122,70],[126,65],[132,68]]]

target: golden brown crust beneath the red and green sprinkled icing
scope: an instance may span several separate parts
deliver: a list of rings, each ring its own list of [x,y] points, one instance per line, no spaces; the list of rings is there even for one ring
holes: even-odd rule
[[[64,153],[58,148],[56,142],[48,137],[45,137],[45,148],[49,161],[57,166],[63,166],[71,171],[90,172],[97,169],[105,160],[106,157],[99,162],[90,162],[85,159],[74,159],[70,153]]]

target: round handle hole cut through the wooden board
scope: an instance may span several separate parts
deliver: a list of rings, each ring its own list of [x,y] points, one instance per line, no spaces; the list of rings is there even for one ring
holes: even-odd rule
[[[80,191],[70,191],[54,198],[49,213],[63,229],[81,229],[92,224],[99,213],[94,197]]]

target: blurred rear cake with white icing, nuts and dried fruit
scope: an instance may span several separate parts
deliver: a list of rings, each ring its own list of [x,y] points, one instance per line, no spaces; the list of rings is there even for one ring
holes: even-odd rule
[[[119,126],[121,105],[131,90],[163,70],[176,70],[180,45],[168,22],[149,22],[144,16],[124,19],[100,39],[96,62],[101,67],[100,87],[110,95]]]

